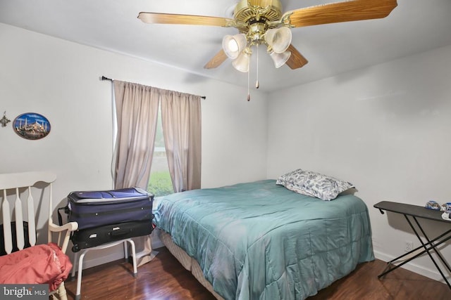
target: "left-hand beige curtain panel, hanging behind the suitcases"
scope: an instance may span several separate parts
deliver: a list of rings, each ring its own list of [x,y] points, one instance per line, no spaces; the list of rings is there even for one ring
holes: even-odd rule
[[[114,188],[137,186],[147,190],[154,155],[159,89],[113,82],[118,124],[113,157]],[[148,235],[144,237],[144,250],[137,254],[137,265],[142,266],[155,255]]]

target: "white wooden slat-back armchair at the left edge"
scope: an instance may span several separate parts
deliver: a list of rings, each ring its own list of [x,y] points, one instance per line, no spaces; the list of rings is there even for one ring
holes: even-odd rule
[[[0,198],[3,198],[0,210],[6,255],[11,254],[14,248],[17,248],[18,251],[28,251],[28,248],[23,250],[27,244],[30,244],[30,247],[36,245],[38,219],[36,214],[39,216],[41,211],[46,210],[39,209],[39,211],[35,211],[35,198],[38,201],[41,200],[38,208],[49,208],[48,242],[54,242],[64,254],[66,253],[70,232],[77,230],[78,223],[70,222],[63,226],[57,226],[52,221],[51,215],[54,209],[52,204],[52,183],[55,179],[56,175],[43,171],[0,174]],[[16,243],[13,243],[14,226],[11,226],[11,221],[16,223]],[[24,224],[28,227],[27,235],[24,234]],[[28,237],[27,240],[26,236]],[[56,237],[55,240],[53,237]],[[23,284],[27,283],[39,282],[23,282]],[[50,294],[54,297],[57,296],[58,299],[67,299],[64,282]]]

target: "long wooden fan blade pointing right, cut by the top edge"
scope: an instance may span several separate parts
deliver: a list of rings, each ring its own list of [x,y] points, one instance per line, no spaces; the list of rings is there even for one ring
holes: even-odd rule
[[[396,0],[354,0],[300,8],[282,18],[289,15],[293,27],[369,20],[385,18],[396,6]]]

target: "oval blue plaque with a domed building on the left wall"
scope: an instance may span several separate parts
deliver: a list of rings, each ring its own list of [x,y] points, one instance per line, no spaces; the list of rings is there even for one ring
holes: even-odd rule
[[[27,140],[39,140],[50,133],[50,122],[43,115],[27,112],[19,115],[13,122],[14,131]]]

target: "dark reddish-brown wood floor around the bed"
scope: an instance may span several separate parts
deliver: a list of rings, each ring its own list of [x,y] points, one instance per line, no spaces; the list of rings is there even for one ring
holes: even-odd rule
[[[137,278],[132,276],[130,263],[123,261],[83,270],[81,299],[215,299],[166,248],[156,250],[156,258],[138,268]],[[444,283],[402,268],[378,280],[383,268],[385,263],[379,260],[362,263],[308,300],[451,299],[451,290]],[[76,284],[76,280],[66,281],[68,299],[75,299]]]

